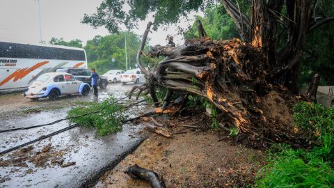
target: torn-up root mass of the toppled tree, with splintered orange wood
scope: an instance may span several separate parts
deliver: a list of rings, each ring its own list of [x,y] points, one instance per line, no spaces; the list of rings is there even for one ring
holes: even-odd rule
[[[158,85],[168,88],[163,109],[175,91],[199,95],[223,111],[239,132],[248,132],[247,108],[253,106],[257,95],[267,92],[266,61],[260,49],[235,38],[218,41],[197,38],[180,47],[158,45],[146,55],[165,58],[149,72],[140,61],[149,29],[150,24],[138,51],[137,63],[148,79],[143,90],[148,89],[153,101],[157,102],[154,87]],[[245,90],[254,92],[243,92]]]

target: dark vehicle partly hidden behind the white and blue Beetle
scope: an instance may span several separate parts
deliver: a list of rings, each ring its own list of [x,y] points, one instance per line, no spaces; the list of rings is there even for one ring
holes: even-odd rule
[[[56,72],[66,72],[73,75],[75,79],[89,84],[90,87],[92,86],[92,81],[88,79],[92,73],[86,68],[58,68]],[[97,85],[100,86],[100,88],[102,89],[106,88],[106,86],[108,85],[108,78],[104,76],[99,76]]]

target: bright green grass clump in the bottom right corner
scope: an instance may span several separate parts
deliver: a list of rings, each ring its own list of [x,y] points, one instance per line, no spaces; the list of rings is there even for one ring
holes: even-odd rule
[[[283,150],[271,155],[257,174],[255,187],[333,187],[331,166],[312,152]]]

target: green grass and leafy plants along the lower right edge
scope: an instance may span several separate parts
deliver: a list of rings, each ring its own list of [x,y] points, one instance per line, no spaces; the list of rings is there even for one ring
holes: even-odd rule
[[[301,102],[293,111],[294,126],[318,145],[310,150],[273,145],[254,187],[334,187],[334,108]]]

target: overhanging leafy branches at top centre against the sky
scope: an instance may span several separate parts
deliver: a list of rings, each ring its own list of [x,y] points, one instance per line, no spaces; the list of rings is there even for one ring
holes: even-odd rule
[[[129,11],[122,7],[127,3]],[[139,20],[145,20],[148,14],[153,14],[153,29],[161,25],[180,22],[180,17],[187,19],[191,11],[204,10],[207,6],[216,3],[214,0],[161,0],[161,1],[119,1],[104,0],[97,13],[84,15],[82,23],[90,24],[94,28],[105,26],[111,33],[117,33],[123,24],[128,29],[137,26]]]

